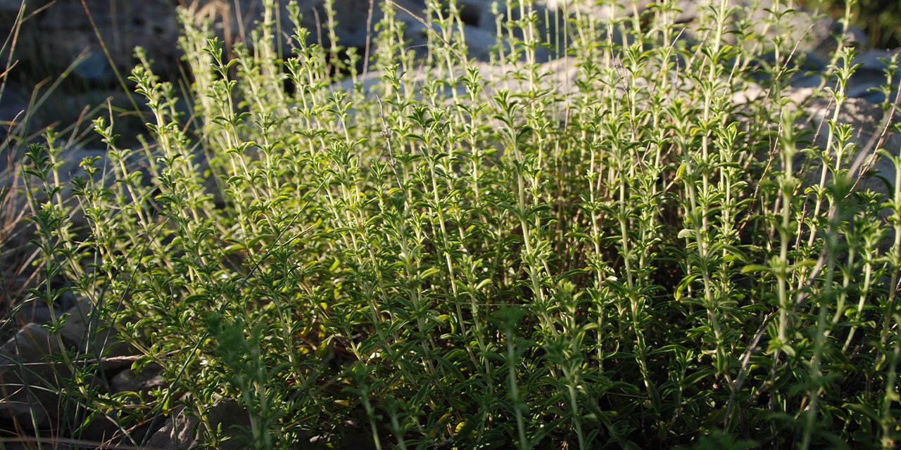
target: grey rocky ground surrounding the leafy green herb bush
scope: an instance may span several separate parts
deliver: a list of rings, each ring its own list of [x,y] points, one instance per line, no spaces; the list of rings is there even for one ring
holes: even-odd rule
[[[223,40],[231,46],[240,40],[241,33],[251,26],[261,14],[262,1],[241,2],[241,10],[235,10],[232,2],[215,0],[184,1],[190,6],[191,14],[197,20],[206,17],[214,17],[216,30],[223,36]],[[378,2],[377,2],[378,3]],[[405,9],[412,12],[423,10],[421,0],[398,0]],[[463,19],[467,23],[466,36],[471,50],[471,55],[478,61],[484,71],[501,70],[499,67],[487,65],[487,55],[490,47],[495,44],[495,18],[490,13],[487,0],[464,0]],[[641,7],[648,1],[639,2]],[[19,12],[21,2],[18,0],[0,0],[0,30],[9,30],[12,27],[12,18]],[[30,140],[32,132],[41,130],[52,123],[65,125],[79,120],[79,117],[90,116],[92,105],[105,103],[109,98],[110,103],[123,106],[127,109],[130,102],[127,95],[114,88],[116,85],[116,72],[127,73],[134,63],[132,48],[141,45],[148,49],[150,58],[157,61],[160,73],[178,76],[177,54],[177,18],[172,2],[165,0],[145,0],[141,2],[128,2],[125,0],[87,0],[82,4],[80,0],[58,0],[41,10],[41,4],[49,2],[30,2],[29,9],[25,12],[30,15],[23,25],[20,46],[15,58],[20,61],[20,68],[31,71],[32,74],[43,73],[48,76],[61,73],[73,61],[76,55],[81,55],[83,61],[74,67],[69,79],[59,90],[53,94],[50,100],[37,108],[31,116],[25,114],[29,111],[29,104],[37,98],[34,92],[42,92],[35,88],[35,79],[11,75],[9,84],[0,97],[0,122],[4,123],[3,131],[0,131],[0,182],[12,184],[16,178],[10,173],[8,167],[13,167],[18,153],[22,150],[17,144]],[[696,2],[683,0],[683,14],[679,18],[681,23],[691,23],[697,18]],[[85,6],[91,12],[94,23],[88,19]],[[315,16],[323,16],[320,0],[304,0],[301,2],[305,12],[305,26],[314,30]],[[549,0],[542,7],[551,12],[558,12],[560,5]],[[368,0],[336,0],[337,21],[340,23],[338,33],[342,45],[363,49],[367,42],[367,26],[365,19],[369,11]],[[313,12],[316,11],[316,14]],[[609,14],[604,7],[596,7],[594,14],[603,16]],[[758,13],[753,13],[758,14]],[[543,16],[542,14],[539,14]],[[377,23],[380,18],[378,9],[373,14],[371,23]],[[426,30],[409,14],[401,13],[399,18],[408,25],[407,38],[416,46],[425,41]],[[822,69],[829,58],[829,52],[834,48],[834,40],[830,32],[839,31],[841,28],[832,19],[822,18],[814,21],[809,16],[800,15],[796,18],[800,31],[793,40],[805,42],[799,49],[807,55],[807,64],[810,69]],[[282,26],[289,29],[287,14],[281,14]],[[94,26],[97,33],[104,38],[112,58],[112,63],[105,58],[103,49],[98,44]],[[813,26],[811,26],[813,25]],[[4,29],[5,27],[5,29]],[[808,30],[809,28],[809,30]],[[2,31],[0,31],[2,32]],[[861,146],[873,143],[873,136],[881,134],[879,125],[884,112],[877,103],[884,100],[883,94],[870,91],[871,87],[878,86],[885,80],[882,73],[884,64],[878,58],[885,58],[891,54],[887,50],[867,49],[860,42],[865,41],[862,32],[851,29],[851,35],[858,41],[857,49],[860,51],[855,62],[862,66],[851,78],[848,91],[851,100],[845,107],[841,121],[850,123],[855,130],[862,130],[856,137]],[[686,39],[690,39],[686,36]],[[546,63],[554,69],[558,76],[549,81],[558,88],[569,88],[567,85],[573,67],[564,61],[549,61]],[[14,72],[11,72],[14,74]],[[378,74],[370,74],[370,77]],[[792,95],[799,99],[809,95],[811,87],[821,83],[819,76],[795,76],[791,80]],[[366,80],[364,80],[364,83]],[[40,86],[39,86],[40,87]],[[46,86],[45,86],[46,87]],[[751,102],[760,97],[760,90],[750,89],[740,94],[735,100],[738,102]],[[40,95],[39,95],[40,97]],[[87,109],[85,107],[87,106]],[[806,126],[813,130],[821,128],[824,118],[831,117],[833,105],[828,103],[809,103],[805,107],[808,121]],[[133,141],[130,133],[140,132],[138,128],[131,130],[127,127],[139,126],[140,121],[127,124],[124,139]],[[75,162],[85,156],[105,157],[99,141],[96,139],[81,139],[79,131],[74,130],[66,156],[69,161]],[[897,137],[890,137],[895,139]],[[896,144],[895,144],[896,145]],[[869,148],[872,148],[870,146]],[[896,148],[896,147],[894,147]],[[867,166],[869,159],[861,158],[860,166]],[[878,163],[881,164],[881,163]],[[890,165],[875,166],[884,175],[892,173]],[[69,164],[63,169],[63,175],[72,177],[78,174],[77,164]],[[893,178],[893,176],[891,176]],[[63,180],[65,181],[65,180]],[[868,182],[869,183],[869,182]],[[877,180],[873,180],[872,187],[881,188]],[[137,351],[124,345],[113,345],[113,339],[106,339],[112,333],[104,330],[102,323],[92,314],[93,307],[87,302],[64,295],[55,308],[33,300],[27,292],[34,287],[35,279],[28,272],[30,261],[27,260],[28,252],[18,251],[25,246],[27,239],[20,235],[21,230],[14,228],[15,224],[23,223],[21,220],[30,212],[23,208],[21,199],[6,190],[3,198],[0,198],[0,242],[3,242],[4,253],[0,258],[0,308],[5,308],[5,320],[0,324],[0,338],[8,339],[0,347],[0,438],[22,439],[22,442],[5,442],[0,447],[6,448],[35,448],[34,436],[53,437],[58,444],[67,441],[66,436],[54,436],[54,430],[59,430],[59,424],[71,423],[67,416],[75,414],[73,407],[68,404],[65,396],[60,396],[58,385],[54,380],[66,376],[59,370],[59,350],[62,347],[77,347],[86,355],[104,355],[101,376],[97,377],[94,385],[104,392],[150,392],[150,390],[162,386],[163,380],[159,376],[158,365],[144,367],[135,373],[130,368],[135,360]],[[32,299],[32,300],[30,300]],[[65,328],[59,333],[59,338],[51,337],[45,327],[50,323],[53,314],[60,317],[68,315]],[[100,330],[98,332],[98,330]],[[93,336],[93,339],[87,339]],[[0,340],[2,342],[2,340]],[[77,410],[77,408],[76,408]],[[223,401],[211,412],[209,422],[211,425],[222,425],[228,429],[232,425],[244,425],[247,423],[247,414],[233,401]],[[147,446],[154,448],[188,448],[194,442],[196,436],[196,419],[186,415],[184,411],[176,410],[170,417],[148,418],[138,428],[132,430],[132,436],[136,442],[144,441]],[[352,427],[352,424],[350,424]],[[96,418],[89,422],[78,435],[80,440],[95,441],[97,443],[107,440],[109,437],[119,434],[120,430],[105,418]],[[309,437],[311,446],[324,446],[328,441],[337,437]],[[362,437],[360,437],[362,439]],[[236,441],[232,441],[236,442]],[[359,446],[359,441],[353,437],[342,439],[342,448]],[[59,446],[64,448],[66,446]],[[71,446],[74,448],[75,446]]]

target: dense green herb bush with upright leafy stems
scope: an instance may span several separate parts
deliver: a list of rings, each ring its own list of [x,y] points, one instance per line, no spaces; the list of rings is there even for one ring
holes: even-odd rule
[[[146,146],[96,119],[108,157],[67,186],[58,139],[33,146],[33,294],[86,298],[167,382],[110,394],[99,355],[60,356],[72,436],[105,419],[141,446],[148,420],[230,398],[251,448],[896,446],[901,172],[858,181],[901,154],[837,120],[853,49],[809,130],[787,94],[803,54],[761,31],[790,2],[751,23],[716,0],[690,32],[672,1],[601,3],[564,6],[560,32],[499,5],[518,19],[490,64],[452,0],[427,2],[420,53],[381,4],[365,61],[299,27],[283,60],[271,14],[227,59],[187,20],[189,85],[132,72]]]

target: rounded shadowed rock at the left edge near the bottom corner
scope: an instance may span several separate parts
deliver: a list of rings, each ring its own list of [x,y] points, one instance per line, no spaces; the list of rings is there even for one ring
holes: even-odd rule
[[[56,419],[59,395],[55,386],[68,371],[54,367],[45,357],[59,350],[57,338],[34,322],[0,347],[0,417],[28,429]]]

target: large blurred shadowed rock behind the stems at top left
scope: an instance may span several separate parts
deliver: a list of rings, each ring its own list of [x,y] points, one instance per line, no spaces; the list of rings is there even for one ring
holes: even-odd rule
[[[0,28],[10,30],[19,2],[4,2],[0,4]],[[148,58],[155,61],[156,72],[168,79],[178,79],[181,76],[178,69],[181,26],[176,5],[179,3],[173,0],[86,0],[85,4],[81,0],[29,2],[28,13],[36,14],[23,23],[16,55],[23,60],[23,66],[29,67],[27,71],[40,72],[41,77],[49,75],[48,72],[61,73],[80,55],[81,61],[73,70],[76,76],[104,85],[118,85],[115,70],[127,76],[137,62],[133,58],[134,48],[140,46],[146,49]],[[250,30],[263,19],[265,3],[264,0],[187,2],[189,14],[196,23],[212,21],[214,32],[229,52],[237,42],[250,39]],[[381,18],[378,2],[376,4],[372,26]],[[422,11],[424,5],[415,0],[401,4],[415,12]],[[316,26],[317,17],[323,21],[326,18],[323,0],[304,0],[299,6],[303,25],[311,31],[311,40],[327,42],[327,36],[317,36],[317,29],[323,30],[323,27]],[[336,0],[334,11],[339,43],[345,47],[365,47],[369,0]],[[290,35],[293,25],[287,14],[287,2],[281,2],[281,10],[274,16],[280,20],[276,23],[280,30]],[[286,35],[276,38],[284,40]]]

